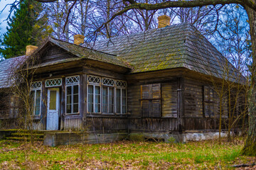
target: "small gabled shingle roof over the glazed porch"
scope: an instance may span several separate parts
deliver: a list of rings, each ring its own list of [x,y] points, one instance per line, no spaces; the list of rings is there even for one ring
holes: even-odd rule
[[[44,45],[46,45],[47,42],[51,42],[54,45],[58,45],[58,47],[63,48],[64,50],[70,52],[71,54],[75,55],[75,57],[70,57],[70,59],[65,59],[65,60],[58,60],[55,62],[50,62],[50,63],[41,63],[35,67],[42,67],[42,66],[47,66],[50,64],[57,64],[61,62],[70,62],[73,60],[82,60],[82,59],[88,59],[88,60],[96,60],[100,62],[107,62],[110,64],[115,64],[121,67],[129,67],[128,64],[124,63],[122,60],[118,59],[116,55],[110,55],[106,54],[105,52],[98,52],[97,50],[92,50],[87,47],[82,47],[80,45],[74,45],[69,42],[65,42],[62,40],[57,40],[55,38],[48,38],[41,47],[39,47],[39,50],[43,48]],[[36,53],[36,52],[35,52]]]

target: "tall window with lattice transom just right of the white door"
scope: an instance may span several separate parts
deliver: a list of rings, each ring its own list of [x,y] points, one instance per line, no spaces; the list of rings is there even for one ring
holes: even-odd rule
[[[79,83],[80,77],[66,77],[66,114],[79,113]]]

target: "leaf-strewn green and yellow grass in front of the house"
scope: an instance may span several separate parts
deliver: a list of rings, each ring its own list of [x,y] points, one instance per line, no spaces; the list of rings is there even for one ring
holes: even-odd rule
[[[244,139],[167,144],[114,142],[46,147],[0,141],[0,169],[230,169],[255,162],[240,155]]]

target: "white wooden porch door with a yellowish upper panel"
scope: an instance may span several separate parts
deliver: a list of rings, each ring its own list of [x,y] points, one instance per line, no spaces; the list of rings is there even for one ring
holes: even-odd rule
[[[48,89],[46,130],[58,130],[59,94],[59,89]]]

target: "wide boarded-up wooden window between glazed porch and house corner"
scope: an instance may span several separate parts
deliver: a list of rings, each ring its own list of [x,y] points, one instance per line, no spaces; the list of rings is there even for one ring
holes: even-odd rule
[[[143,117],[161,117],[161,84],[141,86],[141,108]]]

